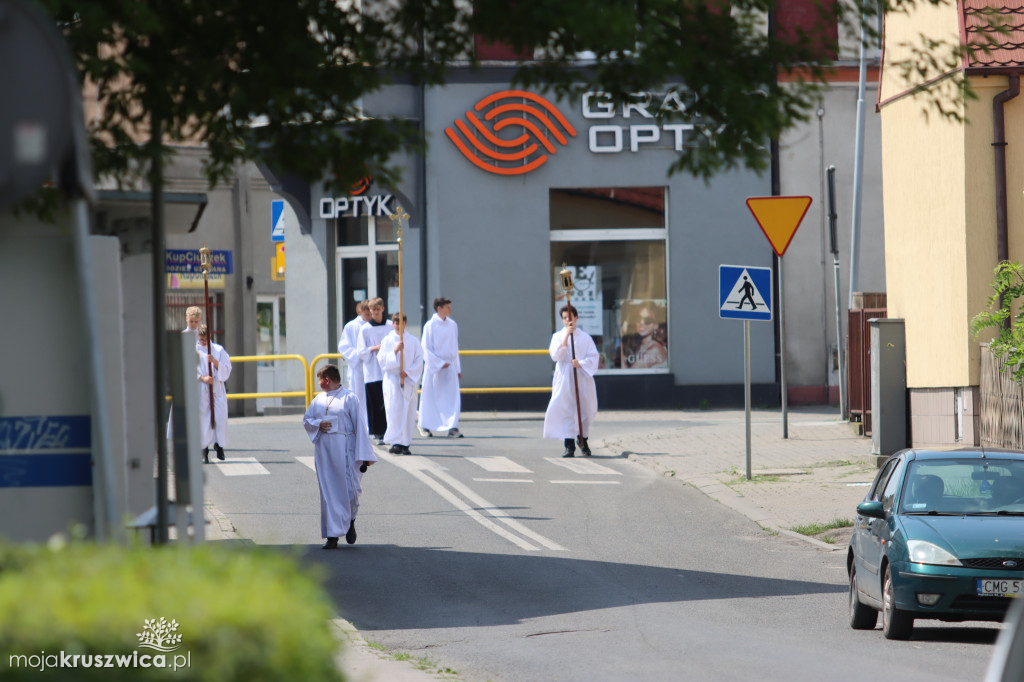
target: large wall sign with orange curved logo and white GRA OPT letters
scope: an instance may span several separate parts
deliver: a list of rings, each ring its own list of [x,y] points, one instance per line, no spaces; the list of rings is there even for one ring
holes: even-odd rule
[[[687,110],[685,93],[638,92],[615,104],[602,92],[581,97],[592,154],[631,153],[643,148],[673,148],[707,143],[710,132],[694,123],[658,123],[666,115]],[[504,132],[503,132],[504,131]],[[577,129],[554,103],[525,90],[502,90],[488,95],[444,129],[456,148],[477,168],[498,175],[529,173],[577,136]]]

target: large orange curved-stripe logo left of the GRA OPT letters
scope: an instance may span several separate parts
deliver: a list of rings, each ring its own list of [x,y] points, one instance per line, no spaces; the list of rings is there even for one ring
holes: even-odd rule
[[[482,114],[482,121],[473,112],[466,112],[469,123],[457,120],[458,131],[449,127],[444,134],[473,165],[488,173],[528,173],[555,154],[557,147],[552,138],[564,146],[568,144],[566,134],[575,137],[575,128],[554,104],[525,90],[496,92],[476,102],[473,109]],[[511,138],[509,133],[498,135],[506,129],[511,129],[513,135],[519,131],[521,134]],[[547,154],[541,151],[542,146]]]

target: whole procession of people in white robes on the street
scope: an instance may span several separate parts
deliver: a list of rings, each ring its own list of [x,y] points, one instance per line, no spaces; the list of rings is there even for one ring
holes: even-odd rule
[[[563,278],[567,272],[563,270]],[[571,288],[570,275],[563,286]],[[566,304],[559,310],[563,327],[549,345],[554,375],[543,436],[562,440],[562,457],[575,457],[578,446],[589,457],[600,354],[593,338],[578,328],[579,311],[569,302],[568,290],[565,293]],[[406,456],[412,455],[417,430],[424,437],[463,437],[459,327],[452,318],[451,299],[437,297],[433,307],[434,314],[417,339],[407,331],[403,313],[384,317],[382,299],[356,302],[356,316],[343,326],[338,340],[349,385],[344,385],[336,365],[316,372],[321,392],[306,408],[302,426],[313,445],[324,549],[337,549],[341,538],[349,545],[356,541],[362,476],[378,461],[375,445],[389,446],[389,455]],[[209,463],[210,447],[218,460],[225,459],[225,382],[231,361],[223,346],[213,342],[208,326],[200,324],[201,312],[188,308],[183,333],[196,335],[201,446],[203,460]]]

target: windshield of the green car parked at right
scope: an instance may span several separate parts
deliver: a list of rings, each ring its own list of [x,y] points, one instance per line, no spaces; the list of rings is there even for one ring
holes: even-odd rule
[[[1024,514],[1024,461],[913,460],[903,479],[904,514]]]

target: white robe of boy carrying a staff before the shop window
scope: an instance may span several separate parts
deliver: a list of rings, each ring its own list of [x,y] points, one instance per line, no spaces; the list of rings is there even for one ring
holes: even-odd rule
[[[575,374],[580,381],[580,415],[577,415],[575,388],[572,382],[571,345],[562,347],[568,332],[562,328],[551,337],[548,352],[555,361],[555,376],[551,381],[551,401],[544,415],[545,438],[574,438],[580,435],[580,417],[583,418],[583,437],[590,437],[590,426],[597,416],[597,387],[594,373],[597,372],[601,356],[590,334],[581,329],[572,334],[575,356],[580,369]]]

